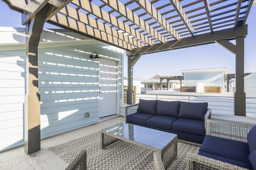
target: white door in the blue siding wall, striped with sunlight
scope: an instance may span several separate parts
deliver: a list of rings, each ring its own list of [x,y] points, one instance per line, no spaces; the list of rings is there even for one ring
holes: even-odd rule
[[[117,114],[117,62],[100,59],[100,100],[101,117]]]

